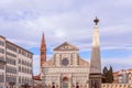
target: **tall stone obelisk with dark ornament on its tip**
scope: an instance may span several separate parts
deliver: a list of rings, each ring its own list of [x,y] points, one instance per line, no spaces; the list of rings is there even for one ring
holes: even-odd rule
[[[90,74],[89,74],[89,88],[101,88],[101,57],[99,44],[99,19],[95,19],[95,30],[92,36],[92,51],[90,58]]]

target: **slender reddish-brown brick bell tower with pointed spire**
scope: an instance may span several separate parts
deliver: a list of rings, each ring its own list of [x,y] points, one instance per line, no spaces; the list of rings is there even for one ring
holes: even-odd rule
[[[41,48],[40,48],[40,64],[41,64],[41,68],[43,66],[43,64],[46,62],[46,43],[45,43],[45,38],[44,38],[44,33],[42,34],[42,42],[41,42]]]

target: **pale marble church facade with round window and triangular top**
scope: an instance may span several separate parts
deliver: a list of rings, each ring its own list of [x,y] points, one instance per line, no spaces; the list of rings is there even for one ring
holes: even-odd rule
[[[53,57],[45,62],[42,69],[42,79],[46,86],[58,88],[85,86],[87,88],[89,63],[79,56],[78,51],[67,42],[54,48]]]

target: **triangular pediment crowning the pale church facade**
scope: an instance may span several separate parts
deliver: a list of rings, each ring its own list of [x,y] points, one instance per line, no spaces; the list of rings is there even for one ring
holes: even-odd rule
[[[65,42],[62,45],[55,47],[54,51],[79,51],[79,48]]]

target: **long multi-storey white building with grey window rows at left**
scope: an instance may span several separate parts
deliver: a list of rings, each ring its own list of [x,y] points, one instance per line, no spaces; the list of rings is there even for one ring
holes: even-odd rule
[[[33,54],[0,35],[0,88],[32,86]]]

